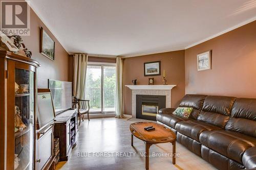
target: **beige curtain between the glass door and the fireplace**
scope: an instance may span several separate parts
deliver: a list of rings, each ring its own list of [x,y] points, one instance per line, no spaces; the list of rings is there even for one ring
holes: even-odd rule
[[[116,118],[123,116],[123,96],[122,96],[122,58],[116,58]]]

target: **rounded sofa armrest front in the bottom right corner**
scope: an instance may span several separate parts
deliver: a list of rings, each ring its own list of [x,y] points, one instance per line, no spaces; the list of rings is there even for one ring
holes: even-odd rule
[[[256,168],[256,147],[251,147],[244,152],[242,161],[246,169]]]

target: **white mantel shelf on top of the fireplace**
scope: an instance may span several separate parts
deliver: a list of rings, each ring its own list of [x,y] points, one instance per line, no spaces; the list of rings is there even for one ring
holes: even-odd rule
[[[132,90],[172,90],[176,85],[125,85]]]

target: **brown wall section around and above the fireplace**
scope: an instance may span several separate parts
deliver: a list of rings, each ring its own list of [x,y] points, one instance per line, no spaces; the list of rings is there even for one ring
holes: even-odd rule
[[[124,85],[131,85],[137,79],[138,85],[147,85],[148,78],[144,77],[144,62],[161,61],[161,76],[152,76],[155,84],[162,84],[165,69],[167,84],[176,84],[172,89],[172,107],[177,107],[185,94],[184,50],[131,57],[123,59],[123,105],[124,114],[132,114],[132,90]]]

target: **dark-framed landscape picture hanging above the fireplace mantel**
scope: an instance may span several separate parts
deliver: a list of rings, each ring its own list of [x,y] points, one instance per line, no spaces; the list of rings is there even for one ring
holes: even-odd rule
[[[144,63],[144,76],[159,76],[161,75],[161,62]]]

